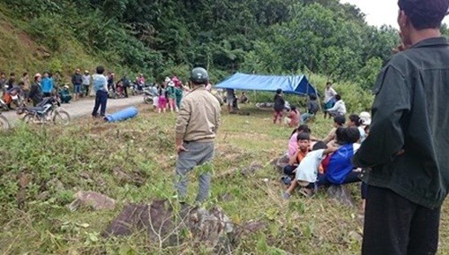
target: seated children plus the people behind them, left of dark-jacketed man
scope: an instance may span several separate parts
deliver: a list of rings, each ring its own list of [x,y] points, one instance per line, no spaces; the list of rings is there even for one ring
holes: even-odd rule
[[[281,89],[274,97],[273,123],[284,123],[295,128],[289,137],[286,158],[288,163],[283,169],[281,180],[288,185],[283,198],[290,198],[293,191],[312,197],[320,187],[360,182],[361,169],[353,167],[351,159],[360,144],[369,134],[371,115],[364,111],[359,115],[351,114],[347,120],[345,102],[327,83],[324,90],[322,111],[324,119],[332,118],[333,127],[327,136],[318,139],[312,136],[312,130],[306,124],[315,118],[321,106],[316,95],[310,95],[307,110],[301,114],[295,106],[286,110],[286,101]],[[283,115],[287,116],[282,121]],[[362,209],[365,209],[366,185],[361,185]]]

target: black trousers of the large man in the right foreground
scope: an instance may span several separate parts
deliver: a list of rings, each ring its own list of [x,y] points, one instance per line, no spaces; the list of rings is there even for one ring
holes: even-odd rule
[[[362,254],[435,254],[440,211],[368,186]]]

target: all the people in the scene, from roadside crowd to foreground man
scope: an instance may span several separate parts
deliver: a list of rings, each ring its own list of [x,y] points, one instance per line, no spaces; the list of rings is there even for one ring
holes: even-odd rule
[[[327,136],[318,139],[304,124],[320,108],[311,96],[307,112],[291,107],[286,125],[295,127],[289,137],[288,163],[283,198],[293,191],[312,197],[320,187],[364,182],[360,185],[365,210],[362,254],[436,254],[441,207],[449,190],[449,163],[445,151],[449,136],[447,97],[449,90],[449,41],[440,28],[449,8],[448,0],[399,0],[398,24],[401,46],[384,64],[374,91],[373,124],[368,112],[352,114],[342,97],[326,85],[323,99],[325,118],[333,119]],[[98,66],[92,75],[95,106],[92,116],[104,116],[113,74],[108,77]],[[84,74],[84,75],[88,75]],[[142,80],[143,77],[140,77]],[[76,70],[72,77],[75,100],[87,81]],[[208,74],[194,68],[193,88],[186,89],[177,77],[154,85],[154,107],[158,112],[179,111],[175,128],[178,154],[175,186],[183,203],[188,194],[187,174],[201,165],[196,201],[209,196],[214,141],[220,128],[220,103],[208,90]],[[24,73],[16,84],[15,75],[0,74],[5,97],[20,89],[34,104],[51,95],[60,85],[57,74],[36,74],[30,81]],[[126,85],[125,85],[126,86]],[[182,99],[182,103],[180,102]],[[228,91],[228,110],[233,110],[234,92]],[[282,90],[274,98],[273,123],[283,123],[286,101]],[[296,128],[297,127],[297,128]],[[366,200],[365,200],[366,198]]]

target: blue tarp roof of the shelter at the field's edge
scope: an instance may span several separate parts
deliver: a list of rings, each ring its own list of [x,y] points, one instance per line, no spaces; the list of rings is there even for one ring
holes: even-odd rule
[[[279,76],[236,73],[216,84],[216,88],[266,92],[276,92],[277,89],[282,89],[283,92],[299,95],[316,94],[315,88],[312,84],[309,84],[305,75]]]

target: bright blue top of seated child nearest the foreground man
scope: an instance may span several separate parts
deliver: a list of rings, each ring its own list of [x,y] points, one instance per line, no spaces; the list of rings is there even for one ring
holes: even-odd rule
[[[351,163],[354,155],[354,145],[341,145],[339,149],[330,156],[326,171],[327,179],[333,184],[342,184],[349,172],[354,169]]]

